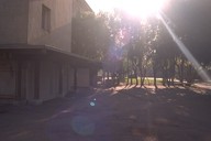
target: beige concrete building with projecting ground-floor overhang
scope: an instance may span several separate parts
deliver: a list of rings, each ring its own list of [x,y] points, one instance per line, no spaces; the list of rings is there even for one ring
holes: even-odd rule
[[[0,100],[41,102],[90,86],[93,62],[71,53],[73,0],[0,1]]]

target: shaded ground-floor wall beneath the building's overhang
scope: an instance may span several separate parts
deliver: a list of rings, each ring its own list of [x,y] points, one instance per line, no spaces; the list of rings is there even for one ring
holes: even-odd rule
[[[19,57],[0,61],[0,99],[40,104],[64,97],[75,88],[90,87],[89,68],[75,72],[69,62],[62,59]]]

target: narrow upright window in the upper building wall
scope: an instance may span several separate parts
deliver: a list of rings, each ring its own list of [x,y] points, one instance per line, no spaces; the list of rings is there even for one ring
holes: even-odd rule
[[[42,29],[47,32],[51,31],[51,9],[44,4],[42,7]]]

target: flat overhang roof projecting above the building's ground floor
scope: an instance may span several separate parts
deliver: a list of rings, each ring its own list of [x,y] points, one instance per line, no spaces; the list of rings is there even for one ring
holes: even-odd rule
[[[99,62],[48,45],[0,44],[0,53],[15,59],[54,59],[76,67],[99,67]]]

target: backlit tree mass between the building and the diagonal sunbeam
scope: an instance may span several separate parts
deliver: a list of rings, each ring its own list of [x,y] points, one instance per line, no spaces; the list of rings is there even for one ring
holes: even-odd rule
[[[155,86],[159,82],[156,77],[164,79],[163,85],[175,77],[181,83],[192,82],[189,76],[196,72],[191,63],[156,17],[140,20],[115,10],[97,15],[81,13],[73,21],[73,52],[103,62],[110,76],[135,76],[136,84],[154,76]]]

